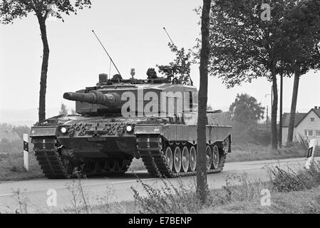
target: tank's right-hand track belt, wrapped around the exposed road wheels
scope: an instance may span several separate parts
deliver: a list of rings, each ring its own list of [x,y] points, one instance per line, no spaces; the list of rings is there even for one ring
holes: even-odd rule
[[[197,171],[173,172],[167,165],[165,153],[162,150],[161,135],[138,135],[138,152],[140,152],[145,167],[153,177],[186,177],[196,175]],[[220,150],[220,160],[217,169],[207,170],[208,174],[221,172],[227,155]]]

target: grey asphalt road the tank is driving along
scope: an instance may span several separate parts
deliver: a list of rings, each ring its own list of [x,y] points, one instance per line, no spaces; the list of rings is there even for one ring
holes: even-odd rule
[[[317,157],[319,158],[319,157]],[[306,162],[304,158],[294,158],[286,160],[264,160],[253,162],[229,162],[225,165],[224,170],[218,174],[207,176],[210,189],[220,188],[225,184],[228,175],[247,175],[250,180],[267,180],[267,167],[279,165],[281,167],[303,167]],[[123,200],[133,199],[133,191],[130,187],[134,187],[139,192],[143,192],[137,179],[153,187],[161,187],[163,185],[160,178],[150,178],[148,172],[127,172],[121,177],[100,177],[81,180],[85,195],[90,203],[98,204],[99,197],[108,196],[108,202],[120,202]],[[195,177],[178,178],[186,186],[195,185]],[[170,179],[173,185],[178,186],[178,179]],[[78,180],[26,180],[17,182],[1,182],[0,183],[0,212],[15,212],[19,208],[16,199],[16,190],[20,190],[22,197],[27,199],[28,212],[31,213],[48,213],[72,207],[71,187],[77,184]],[[78,189],[78,188],[77,188]],[[49,207],[47,204],[48,197],[56,191],[56,206]],[[48,195],[47,195],[48,194]],[[23,200],[22,200],[23,201]]]

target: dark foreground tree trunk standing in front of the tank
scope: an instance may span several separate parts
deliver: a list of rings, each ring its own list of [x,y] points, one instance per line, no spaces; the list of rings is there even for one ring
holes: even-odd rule
[[[205,154],[206,125],[207,125],[207,87],[208,87],[208,62],[210,55],[210,7],[211,0],[203,0],[201,33],[202,48],[200,52],[200,88],[198,97],[197,120],[197,194],[202,203],[207,200],[207,167]]]

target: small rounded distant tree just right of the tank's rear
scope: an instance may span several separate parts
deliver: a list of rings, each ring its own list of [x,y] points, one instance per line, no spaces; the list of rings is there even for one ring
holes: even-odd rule
[[[232,115],[232,121],[242,123],[247,127],[256,125],[259,120],[264,118],[264,107],[257,99],[247,93],[237,94],[234,103],[230,105],[229,111]]]

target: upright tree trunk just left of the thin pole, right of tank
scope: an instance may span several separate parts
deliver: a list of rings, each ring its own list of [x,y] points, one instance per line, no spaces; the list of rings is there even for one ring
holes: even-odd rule
[[[275,64],[272,66],[272,90],[274,99],[272,102],[272,113],[271,113],[271,145],[272,149],[278,149],[278,138],[277,138],[277,111],[278,111],[278,86],[277,86],[277,74],[275,71]]]

